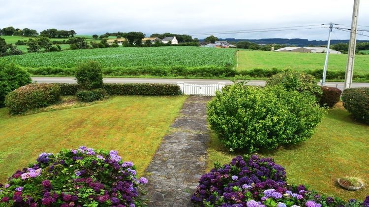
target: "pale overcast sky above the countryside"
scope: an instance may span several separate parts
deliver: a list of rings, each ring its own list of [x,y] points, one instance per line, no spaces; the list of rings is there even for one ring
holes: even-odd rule
[[[0,0],[0,27],[56,28],[79,35],[141,31],[203,34],[275,27],[351,25],[354,0]],[[359,25],[369,26],[369,0],[361,0]],[[347,27],[347,26],[339,26]],[[362,27],[369,30],[369,27]],[[369,32],[364,33],[369,35]],[[207,35],[205,35],[207,36]],[[193,37],[203,38],[204,35]],[[328,29],[216,35],[233,38],[326,40]],[[348,39],[335,31],[332,39]],[[369,37],[358,35],[358,39]]]

